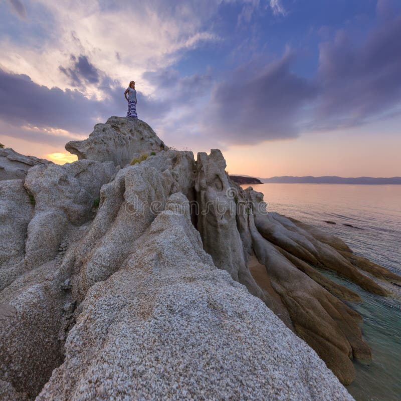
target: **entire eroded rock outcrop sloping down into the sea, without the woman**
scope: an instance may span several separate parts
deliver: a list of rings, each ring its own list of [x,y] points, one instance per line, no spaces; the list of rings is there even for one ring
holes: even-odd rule
[[[399,277],[267,214],[220,150],[124,117],[66,148],[1,181],[0,399],[352,399],[359,298],[314,267],[382,296],[370,275]]]

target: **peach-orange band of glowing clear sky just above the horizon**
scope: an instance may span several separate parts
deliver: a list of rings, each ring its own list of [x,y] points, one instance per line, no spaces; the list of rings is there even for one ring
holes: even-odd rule
[[[304,134],[295,139],[268,141],[258,145],[230,146],[222,149],[230,174],[245,174],[262,178],[294,175],[342,177],[401,176],[401,135],[353,132]],[[64,148],[0,135],[0,142],[17,152],[47,158],[64,164],[77,160]],[[166,143],[168,145],[168,143]],[[177,149],[184,148],[170,144]],[[190,149],[196,157],[197,151]]]

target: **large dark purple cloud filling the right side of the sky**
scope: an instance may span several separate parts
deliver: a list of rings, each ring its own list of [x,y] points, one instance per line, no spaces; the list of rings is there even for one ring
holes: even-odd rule
[[[290,53],[250,62],[214,88],[205,122],[222,143],[259,143],[401,115],[401,17],[353,44],[345,31],[319,48],[316,75],[291,72]]]

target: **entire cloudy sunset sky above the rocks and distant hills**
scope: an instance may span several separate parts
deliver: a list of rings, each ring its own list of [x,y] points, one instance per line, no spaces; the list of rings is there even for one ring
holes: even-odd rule
[[[1,0],[0,142],[58,163],[137,112],[231,174],[401,176],[399,0]]]

